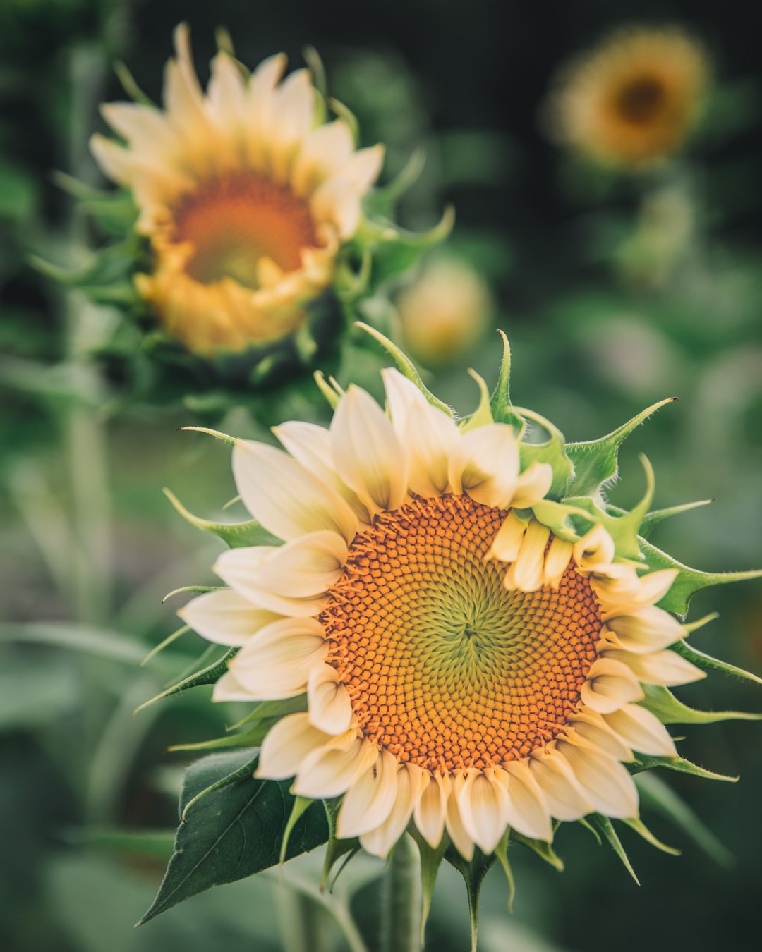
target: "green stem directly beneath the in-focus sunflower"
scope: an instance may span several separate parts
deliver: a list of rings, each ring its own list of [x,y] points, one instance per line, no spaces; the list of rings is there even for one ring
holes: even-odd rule
[[[420,952],[421,861],[407,833],[391,854],[381,903],[381,952]]]

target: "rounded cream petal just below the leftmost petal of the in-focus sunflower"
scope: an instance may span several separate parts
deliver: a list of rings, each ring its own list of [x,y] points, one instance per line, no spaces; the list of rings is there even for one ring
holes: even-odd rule
[[[293,698],[307,690],[314,667],[328,653],[323,626],[286,618],[258,631],[231,661],[236,681],[259,701]]]

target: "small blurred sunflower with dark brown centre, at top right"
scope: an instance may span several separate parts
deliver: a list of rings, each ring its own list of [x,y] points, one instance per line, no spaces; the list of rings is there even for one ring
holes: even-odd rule
[[[710,64],[677,27],[618,30],[562,70],[551,131],[603,165],[638,169],[680,149],[703,110]]]

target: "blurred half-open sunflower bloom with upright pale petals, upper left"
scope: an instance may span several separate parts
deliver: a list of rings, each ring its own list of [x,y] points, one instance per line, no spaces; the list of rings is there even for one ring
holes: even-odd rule
[[[345,119],[322,122],[310,72],[284,79],[284,55],[250,75],[221,50],[205,93],[185,25],[174,40],[164,109],[105,105],[124,142],[95,135],[92,151],[130,189],[150,242],[136,286],[170,335],[207,357],[266,346],[331,285],[383,149],[355,149]]]

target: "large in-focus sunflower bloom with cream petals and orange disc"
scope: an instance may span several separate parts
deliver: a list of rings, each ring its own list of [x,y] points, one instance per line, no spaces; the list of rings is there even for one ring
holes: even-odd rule
[[[337,837],[378,856],[410,823],[468,861],[509,828],[550,842],[554,821],[634,821],[624,764],[676,757],[644,685],[703,677],[656,606],[677,569],[643,573],[584,510],[582,533],[551,518],[553,466],[523,463],[489,403],[458,426],[382,375],[388,411],[352,386],[330,428],[275,426],[283,449],[234,442],[242,500],[283,545],[226,551],[230,587],[180,611],[239,647],[214,699],[305,696],[258,776],[341,798]]]

